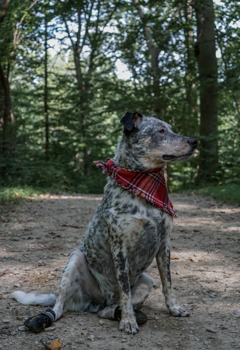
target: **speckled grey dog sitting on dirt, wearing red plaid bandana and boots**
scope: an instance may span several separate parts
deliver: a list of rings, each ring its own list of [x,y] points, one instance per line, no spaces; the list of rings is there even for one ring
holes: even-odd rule
[[[103,199],[83,243],[70,255],[62,271],[59,293],[12,293],[22,304],[54,305],[25,321],[30,330],[38,332],[49,327],[63,315],[66,306],[71,311],[119,320],[121,331],[136,334],[139,324],[147,321],[147,316],[136,308],[141,307],[154,285],[144,272],[154,258],[170,314],[189,316],[176,301],[171,285],[169,236],[177,215],[166,189],[164,198],[159,199],[151,189],[149,194],[144,184],[150,181],[149,187],[155,188],[161,182],[164,189],[164,177],[160,181],[159,174],[164,176],[165,164],[189,159],[197,140],[175,134],[156,115],[144,117],[139,112],[127,112],[120,122],[123,135],[114,158],[108,163],[96,162],[110,175]],[[125,179],[128,176],[140,180],[131,183]]]

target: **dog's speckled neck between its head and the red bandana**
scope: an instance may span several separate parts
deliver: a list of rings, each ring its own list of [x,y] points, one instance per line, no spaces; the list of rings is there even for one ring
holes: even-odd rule
[[[156,166],[151,166],[151,160],[144,156],[142,148],[130,145],[128,139],[123,137],[118,142],[117,152],[112,158],[117,167],[126,168],[133,172],[147,172],[153,168],[161,168],[165,162],[160,162]]]

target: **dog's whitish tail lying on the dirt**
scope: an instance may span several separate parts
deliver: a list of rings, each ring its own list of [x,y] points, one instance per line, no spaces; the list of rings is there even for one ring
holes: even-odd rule
[[[24,293],[21,290],[13,292],[12,297],[24,305],[42,305],[50,306],[56,303],[58,294],[34,294]]]

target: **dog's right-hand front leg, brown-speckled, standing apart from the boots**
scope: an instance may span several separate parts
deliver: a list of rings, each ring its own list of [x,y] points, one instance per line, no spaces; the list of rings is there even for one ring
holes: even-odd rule
[[[157,267],[162,281],[162,292],[166,306],[172,316],[189,316],[189,313],[175,299],[171,284],[169,238],[162,243],[156,255]]]

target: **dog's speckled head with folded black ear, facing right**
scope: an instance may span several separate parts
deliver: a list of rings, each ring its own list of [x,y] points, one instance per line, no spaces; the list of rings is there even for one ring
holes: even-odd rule
[[[139,159],[144,169],[189,159],[197,147],[196,139],[175,134],[156,115],[144,117],[139,112],[127,112],[120,123],[124,126],[122,140],[128,145],[124,147],[129,152],[126,155]]]

